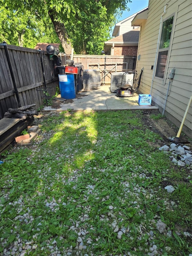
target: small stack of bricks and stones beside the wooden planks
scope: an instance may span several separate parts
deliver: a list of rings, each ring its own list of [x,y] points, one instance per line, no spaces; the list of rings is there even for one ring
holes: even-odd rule
[[[28,134],[15,137],[15,145],[31,146],[41,129],[38,125],[28,126]]]

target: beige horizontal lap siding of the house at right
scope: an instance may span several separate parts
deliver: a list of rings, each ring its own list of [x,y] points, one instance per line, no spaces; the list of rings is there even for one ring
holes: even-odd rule
[[[174,15],[173,29],[170,41],[170,50],[167,57],[167,65],[164,79],[154,76],[150,69],[155,65],[155,56],[161,15],[164,13],[164,6],[168,3],[166,13],[162,17],[162,22]],[[163,112],[167,89],[169,84],[169,71],[175,68],[173,81],[170,82],[167,103],[164,114],[172,120],[178,127],[182,122],[188,101],[192,95],[192,2],[188,0],[158,1],[149,0],[148,17],[141,24],[139,50],[140,60],[137,61],[136,69],[144,67],[140,84],[140,92],[149,94],[152,84],[152,101]],[[154,18],[155,17],[155,18]],[[156,68],[154,66],[154,68]],[[191,136],[191,107],[184,122],[183,131]]]

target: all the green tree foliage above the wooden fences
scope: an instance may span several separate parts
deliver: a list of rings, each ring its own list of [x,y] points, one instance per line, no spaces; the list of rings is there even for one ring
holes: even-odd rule
[[[119,12],[129,2],[6,0],[0,8],[0,39],[29,48],[34,48],[37,42],[64,40],[62,47],[72,42],[77,54],[101,54]]]

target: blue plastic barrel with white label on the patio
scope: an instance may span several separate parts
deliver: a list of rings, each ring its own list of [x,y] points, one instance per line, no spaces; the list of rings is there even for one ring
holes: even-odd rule
[[[74,99],[75,95],[75,79],[74,74],[58,75],[59,88],[61,92],[61,98]]]

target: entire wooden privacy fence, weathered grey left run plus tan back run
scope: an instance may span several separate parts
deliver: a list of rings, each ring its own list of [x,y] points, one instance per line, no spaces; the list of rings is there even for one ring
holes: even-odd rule
[[[14,45],[0,44],[0,119],[8,108],[36,104],[41,107],[47,95],[53,96],[59,86],[55,65],[49,54]],[[59,54],[61,65],[65,65],[70,55]],[[101,83],[110,83],[111,73],[134,70],[136,57],[110,55],[73,55],[75,63],[84,69],[99,69]]]

